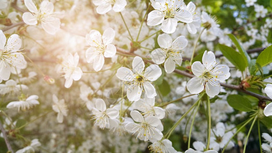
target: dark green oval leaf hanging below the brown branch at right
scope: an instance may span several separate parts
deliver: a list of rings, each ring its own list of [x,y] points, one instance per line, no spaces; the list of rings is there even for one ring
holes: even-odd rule
[[[250,101],[241,95],[238,94],[229,95],[227,101],[232,108],[238,111],[242,112],[253,111]]]

